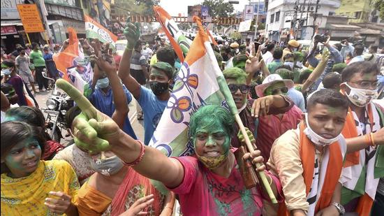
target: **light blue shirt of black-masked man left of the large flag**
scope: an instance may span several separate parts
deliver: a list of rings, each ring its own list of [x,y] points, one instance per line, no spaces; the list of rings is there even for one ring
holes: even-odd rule
[[[138,102],[144,113],[144,144],[148,145],[168,101],[159,100],[151,89],[142,86],[140,88]]]

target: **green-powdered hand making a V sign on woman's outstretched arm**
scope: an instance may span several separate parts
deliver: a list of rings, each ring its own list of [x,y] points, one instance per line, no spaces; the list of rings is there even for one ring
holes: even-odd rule
[[[92,106],[91,102],[66,80],[59,79],[56,85],[71,96],[82,110],[73,121],[76,145],[92,154],[110,150],[110,142],[119,138],[117,134],[120,129],[116,122]]]

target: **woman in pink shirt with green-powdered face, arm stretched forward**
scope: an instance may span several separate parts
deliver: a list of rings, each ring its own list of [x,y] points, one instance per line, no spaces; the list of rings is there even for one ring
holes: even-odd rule
[[[184,215],[260,215],[263,208],[263,192],[260,187],[246,189],[240,175],[234,149],[230,148],[230,136],[234,120],[228,110],[207,105],[191,116],[189,137],[195,148],[195,157],[165,157],[152,147],[142,145],[121,133],[117,124],[99,113],[89,101],[67,82],[57,83],[83,110],[77,117],[77,139],[90,150],[110,150],[126,165],[138,173],[163,182],[179,196]],[[90,124],[89,124],[90,123]],[[91,127],[92,125],[92,127]],[[80,129],[80,130],[79,130]],[[96,133],[94,132],[97,131]],[[111,145],[105,145],[107,140]],[[254,138],[251,136],[251,140]],[[252,163],[263,161],[260,151],[244,155]],[[258,171],[264,171],[261,166]],[[265,171],[267,172],[267,171]],[[275,196],[280,188],[279,180],[267,173]]]

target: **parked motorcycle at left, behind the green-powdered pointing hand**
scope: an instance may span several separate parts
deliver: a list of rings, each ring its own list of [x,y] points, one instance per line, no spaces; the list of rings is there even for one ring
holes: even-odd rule
[[[52,140],[59,143],[61,138],[64,138],[61,131],[67,129],[66,112],[73,107],[73,100],[65,92],[57,90],[54,79],[48,78],[46,71],[43,71],[43,77],[50,80],[53,86],[50,97],[45,101],[47,108],[43,108],[44,113],[46,113],[46,129]]]

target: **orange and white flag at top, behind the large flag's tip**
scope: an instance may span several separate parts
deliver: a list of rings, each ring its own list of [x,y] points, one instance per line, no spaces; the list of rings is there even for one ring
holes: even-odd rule
[[[183,32],[177,27],[175,20],[161,6],[154,6],[154,13],[180,62],[184,62],[184,55],[188,53],[192,41],[184,36]]]

